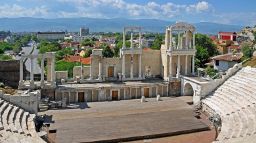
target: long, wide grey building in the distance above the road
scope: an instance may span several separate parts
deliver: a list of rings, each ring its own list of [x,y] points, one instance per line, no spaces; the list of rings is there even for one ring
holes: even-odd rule
[[[57,41],[59,39],[64,39],[64,31],[39,31],[37,32],[37,39],[46,39],[48,41]]]

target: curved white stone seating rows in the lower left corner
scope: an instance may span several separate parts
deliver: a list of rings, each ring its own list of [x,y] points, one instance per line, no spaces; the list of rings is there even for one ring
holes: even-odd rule
[[[45,143],[35,131],[35,114],[0,99],[0,142]]]

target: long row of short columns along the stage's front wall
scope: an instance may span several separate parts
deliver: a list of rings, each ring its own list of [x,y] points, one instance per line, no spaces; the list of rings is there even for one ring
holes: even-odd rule
[[[163,94],[163,87],[166,87],[166,94]],[[148,94],[148,97],[151,98],[152,95],[154,94],[152,92],[152,89],[153,88],[156,88],[156,95],[160,94],[160,96],[169,96],[169,84],[162,84],[162,85],[147,85],[147,86],[143,86],[143,87],[140,87],[140,86],[130,86],[130,87],[119,87],[119,89],[112,89],[111,87],[104,87],[104,88],[97,88],[97,89],[74,89],[74,90],[71,90],[71,91],[65,91],[65,90],[61,90],[61,91],[58,91],[56,90],[55,91],[55,100],[58,99],[58,93],[61,93],[61,98],[63,99],[64,98],[64,92],[68,92],[68,101],[69,101],[69,104],[71,102],[71,92],[75,92],[75,103],[78,102],[78,92],[84,92],[84,101],[85,102],[88,102],[88,98],[89,98],[89,94],[88,92],[90,91],[91,92],[91,102],[100,102],[100,101],[108,101],[108,100],[112,100],[112,92],[111,91],[118,91],[118,97],[117,97],[117,100],[129,100],[131,98],[138,98],[138,89],[140,89],[140,96],[142,96],[142,93],[144,94],[144,89],[149,89],[149,94]],[[161,92],[158,92],[158,88],[161,89]],[[120,89],[123,89],[123,98],[121,98],[120,96]],[[106,91],[107,90],[110,90],[110,95],[107,95],[106,94]],[[126,95],[126,91],[129,91],[129,95]],[[135,94],[131,94],[132,93],[132,90],[135,90]],[[93,96],[94,95],[94,92],[95,91],[98,91],[98,100],[94,100],[93,99]],[[100,95],[100,91],[103,91],[104,92],[104,95],[103,95],[103,98],[102,100],[100,100],[100,97],[102,97],[102,95]]]

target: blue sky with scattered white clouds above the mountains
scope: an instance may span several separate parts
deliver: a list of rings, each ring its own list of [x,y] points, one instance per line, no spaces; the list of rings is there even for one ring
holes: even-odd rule
[[[255,0],[0,0],[0,18],[129,18],[256,25]]]

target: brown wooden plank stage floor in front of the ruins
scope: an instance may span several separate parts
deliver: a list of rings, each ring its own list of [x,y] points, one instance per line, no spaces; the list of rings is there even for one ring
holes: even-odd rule
[[[77,103],[46,112],[55,142],[119,142],[209,130],[179,98]]]

